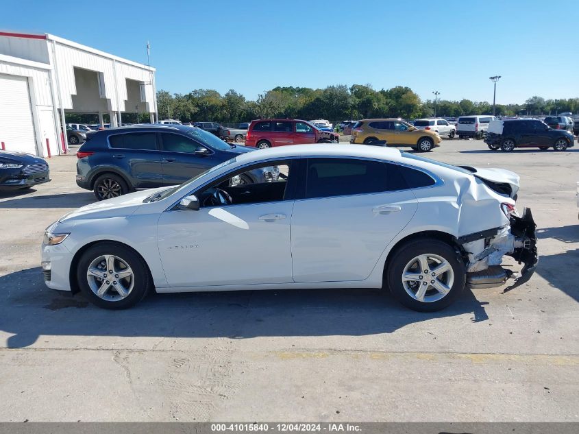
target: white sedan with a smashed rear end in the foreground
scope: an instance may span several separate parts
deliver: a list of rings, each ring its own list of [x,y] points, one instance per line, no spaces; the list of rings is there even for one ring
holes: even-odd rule
[[[271,166],[275,181],[232,182]],[[529,210],[517,215],[518,189],[510,171],[397,149],[274,147],[64,215],[46,230],[42,270],[48,287],[108,309],[153,290],[384,287],[435,311],[465,286],[530,278],[535,226]],[[524,263],[521,273],[501,267],[505,254]]]

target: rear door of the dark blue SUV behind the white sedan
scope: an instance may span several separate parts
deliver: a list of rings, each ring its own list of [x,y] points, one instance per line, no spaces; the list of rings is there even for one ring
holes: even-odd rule
[[[130,177],[135,189],[163,185],[157,134],[153,131],[127,132],[108,136],[110,162]]]

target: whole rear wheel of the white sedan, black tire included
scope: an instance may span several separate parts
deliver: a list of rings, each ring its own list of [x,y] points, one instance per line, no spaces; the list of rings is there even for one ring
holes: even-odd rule
[[[393,296],[414,311],[434,312],[444,309],[452,304],[465,288],[465,263],[454,248],[443,241],[415,239],[402,245],[391,257],[386,269],[386,283]],[[421,262],[421,259],[426,259],[426,263]],[[447,271],[441,272],[439,276],[432,276],[432,270],[443,264],[447,265]],[[422,269],[424,265],[426,270]],[[415,279],[403,281],[405,274]],[[432,282],[436,282],[435,285],[439,285],[444,292],[436,289]],[[423,289],[425,286],[426,290]]]

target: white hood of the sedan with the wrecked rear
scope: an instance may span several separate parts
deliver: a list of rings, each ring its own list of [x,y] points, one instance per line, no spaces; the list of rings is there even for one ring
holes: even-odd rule
[[[126,217],[132,215],[136,209],[143,204],[145,197],[154,194],[158,191],[163,191],[171,187],[159,187],[158,189],[150,189],[143,191],[136,191],[113,199],[101,200],[94,204],[85,205],[78,208],[71,213],[63,215],[58,220],[69,221],[73,219],[103,219],[108,217]]]

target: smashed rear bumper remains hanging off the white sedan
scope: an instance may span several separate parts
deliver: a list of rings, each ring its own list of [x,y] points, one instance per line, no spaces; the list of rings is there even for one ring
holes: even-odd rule
[[[463,245],[469,256],[467,287],[495,288],[504,285],[514,273],[500,266],[503,255],[512,256],[523,264],[513,284],[503,292],[527,282],[539,262],[536,229],[530,208],[525,208],[521,217],[510,217],[510,228],[506,226],[460,237],[457,242]]]

